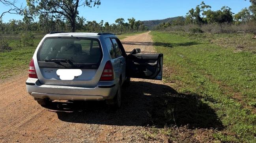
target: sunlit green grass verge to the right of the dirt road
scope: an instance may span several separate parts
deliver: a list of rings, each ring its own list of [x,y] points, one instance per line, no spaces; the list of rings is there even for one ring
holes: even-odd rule
[[[223,142],[256,142],[256,54],[234,52],[232,45],[222,47],[204,36],[151,34],[156,50],[164,54],[164,81],[215,110],[224,129],[213,136]]]

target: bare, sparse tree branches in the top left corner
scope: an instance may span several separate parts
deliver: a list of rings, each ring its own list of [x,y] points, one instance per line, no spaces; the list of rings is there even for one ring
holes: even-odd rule
[[[2,17],[4,16],[4,14],[6,13],[10,13],[10,14],[22,14],[22,11],[24,10],[24,8],[22,7],[17,7],[16,4],[16,0],[0,0],[0,3],[2,3],[3,5],[6,5],[7,7],[10,7],[7,11],[4,11],[2,14],[0,14],[0,19],[2,19]]]

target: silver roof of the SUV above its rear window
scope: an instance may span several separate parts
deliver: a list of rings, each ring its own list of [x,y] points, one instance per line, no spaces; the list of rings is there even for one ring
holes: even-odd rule
[[[69,32],[50,32],[47,34],[47,37],[55,37],[55,36],[75,36],[75,37],[116,37],[116,35],[112,33],[69,33]]]

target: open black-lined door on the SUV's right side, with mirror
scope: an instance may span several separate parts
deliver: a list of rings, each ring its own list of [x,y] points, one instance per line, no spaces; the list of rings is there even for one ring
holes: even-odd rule
[[[127,76],[162,80],[163,54],[138,54],[140,49],[134,49],[127,56]]]

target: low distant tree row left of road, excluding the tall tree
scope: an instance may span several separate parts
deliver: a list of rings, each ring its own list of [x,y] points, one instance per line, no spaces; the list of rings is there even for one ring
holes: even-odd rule
[[[109,22],[97,23],[95,20],[86,21],[83,17],[77,17],[75,22],[76,32],[112,32],[115,34],[122,34],[123,32],[137,32],[145,31],[148,28],[145,27],[143,22],[135,20],[135,18],[128,18],[128,22],[125,22],[123,18],[118,18],[115,24]],[[65,20],[54,20],[47,16],[39,16],[38,21],[34,21],[32,18],[24,16],[23,20],[11,19],[9,22],[2,22],[0,20],[0,31],[2,33],[15,33],[15,32],[43,32],[50,33],[52,31],[70,31],[71,25]]]

